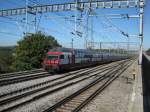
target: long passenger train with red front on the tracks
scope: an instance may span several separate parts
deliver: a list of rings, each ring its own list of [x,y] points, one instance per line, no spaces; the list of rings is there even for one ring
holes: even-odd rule
[[[58,47],[47,52],[42,66],[47,71],[62,71],[119,61],[127,58],[127,54]]]

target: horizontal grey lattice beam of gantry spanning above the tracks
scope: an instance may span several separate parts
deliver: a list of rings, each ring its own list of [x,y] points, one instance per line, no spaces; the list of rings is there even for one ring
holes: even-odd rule
[[[50,4],[39,6],[28,6],[23,8],[0,10],[0,16],[13,16],[26,14],[26,11],[31,14],[44,12],[59,12],[76,10],[98,9],[98,8],[132,8],[139,7],[139,0],[101,0],[90,2],[71,2],[63,4]]]

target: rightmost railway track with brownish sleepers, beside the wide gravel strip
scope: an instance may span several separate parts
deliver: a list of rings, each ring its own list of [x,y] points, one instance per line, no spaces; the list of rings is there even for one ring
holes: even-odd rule
[[[121,75],[130,64],[131,62],[126,62],[120,64],[118,67],[113,67],[113,70],[107,73],[105,77],[100,76],[89,85],[64,98],[43,112],[78,112]]]

